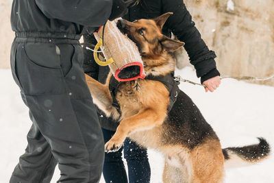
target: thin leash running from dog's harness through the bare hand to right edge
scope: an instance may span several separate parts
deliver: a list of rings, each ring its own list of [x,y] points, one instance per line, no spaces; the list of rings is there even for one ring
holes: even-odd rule
[[[264,78],[260,78],[260,77],[252,77],[252,76],[242,76],[242,77],[232,77],[232,76],[221,76],[220,79],[223,80],[223,79],[227,79],[227,78],[232,78],[234,80],[249,80],[251,82],[255,82],[255,81],[266,81],[266,80],[271,80],[272,78],[274,78],[274,75],[271,75],[269,77],[264,77]],[[199,86],[203,86],[206,88],[206,85],[204,84],[199,84],[199,83],[195,83],[195,82],[191,82],[190,80],[186,80],[184,78],[182,78],[180,75],[178,76],[175,76],[174,77],[174,80],[176,82],[188,82],[190,84],[193,84],[193,85],[199,85]]]

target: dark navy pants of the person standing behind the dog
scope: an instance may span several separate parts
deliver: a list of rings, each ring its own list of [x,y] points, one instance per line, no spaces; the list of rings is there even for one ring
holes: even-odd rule
[[[102,128],[105,143],[112,138],[114,131]],[[129,183],[149,183],[151,170],[149,159],[147,158],[147,149],[138,146],[134,141],[126,138],[124,145],[119,151],[105,153],[105,162],[103,164],[103,178],[106,183],[127,183],[127,173],[122,160],[122,151],[127,160]]]

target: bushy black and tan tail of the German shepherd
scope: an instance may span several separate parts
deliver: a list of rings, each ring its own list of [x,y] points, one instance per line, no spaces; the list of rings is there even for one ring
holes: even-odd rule
[[[258,138],[260,143],[245,147],[227,147],[223,149],[225,168],[244,167],[255,164],[267,158],[271,147],[264,138]]]

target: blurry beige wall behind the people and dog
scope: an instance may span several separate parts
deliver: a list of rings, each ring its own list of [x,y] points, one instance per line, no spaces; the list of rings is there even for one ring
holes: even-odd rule
[[[273,0],[185,0],[208,47],[216,52],[221,75],[274,74]],[[12,0],[0,3],[0,69],[10,68]],[[186,53],[177,66],[188,65]],[[274,80],[260,82],[274,86]]]

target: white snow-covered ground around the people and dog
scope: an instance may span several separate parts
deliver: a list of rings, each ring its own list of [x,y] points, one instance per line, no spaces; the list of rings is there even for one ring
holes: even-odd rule
[[[190,67],[177,71],[185,79],[199,82]],[[26,135],[32,122],[21,100],[10,70],[1,70],[0,89],[0,182],[8,182],[10,175],[27,145]],[[208,123],[221,139],[223,147],[258,143],[262,136],[274,147],[274,87],[223,80],[214,93],[205,93],[201,86],[182,83],[180,88],[200,108]],[[163,160],[160,153],[149,149],[151,183],[160,183]],[[274,158],[260,164],[226,171],[226,183],[274,182]],[[58,180],[55,171],[52,182]],[[103,178],[100,183],[103,183]]]

